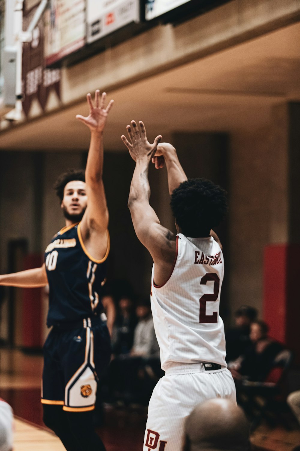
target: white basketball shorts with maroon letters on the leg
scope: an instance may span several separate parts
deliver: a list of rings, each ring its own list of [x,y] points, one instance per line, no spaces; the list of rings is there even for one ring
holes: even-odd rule
[[[190,367],[180,368],[179,374],[174,374],[172,368],[157,382],[149,402],[143,451],[181,451],[184,421],[197,404],[213,398],[236,403],[235,385],[228,369],[184,371],[190,371]]]

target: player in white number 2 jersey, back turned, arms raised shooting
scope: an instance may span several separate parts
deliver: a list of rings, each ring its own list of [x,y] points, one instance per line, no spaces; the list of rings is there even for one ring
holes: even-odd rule
[[[143,451],[180,451],[184,420],[201,401],[236,402],[233,378],[225,362],[224,325],[219,317],[224,259],[211,231],[227,212],[224,189],[205,179],[187,179],[175,148],[153,144],[144,124],[127,126],[122,136],[136,162],[129,208],[136,235],[154,265],[151,306],[161,368],[166,375],[155,387],[148,409]],[[158,149],[158,150],[157,150]],[[148,167],[166,163],[177,236],[161,226],[149,205]]]

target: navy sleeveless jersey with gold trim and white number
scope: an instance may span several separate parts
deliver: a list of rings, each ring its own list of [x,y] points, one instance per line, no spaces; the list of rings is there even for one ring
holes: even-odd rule
[[[102,287],[107,272],[107,252],[95,260],[85,249],[80,223],[64,227],[45,251],[49,282],[47,326],[91,318],[103,311]]]

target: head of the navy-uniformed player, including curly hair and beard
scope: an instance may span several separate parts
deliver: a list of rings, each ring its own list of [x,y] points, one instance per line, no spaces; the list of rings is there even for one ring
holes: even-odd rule
[[[85,173],[83,170],[68,170],[54,184],[60,200],[63,216],[73,224],[80,222],[87,205]]]

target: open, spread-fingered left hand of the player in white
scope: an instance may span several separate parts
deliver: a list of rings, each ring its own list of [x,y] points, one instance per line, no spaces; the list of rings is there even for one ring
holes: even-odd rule
[[[123,143],[128,148],[130,156],[134,161],[148,158],[151,160],[157,151],[157,145],[161,140],[161,135],[158,135],[153,144],[150,144],[147,139],[146,129],[142,121],[139,121],[139,127],[134,120],[131,121],[131,126],[127,125],[126,129],[130,138],[128,141],[124,135],[121,136]]]

